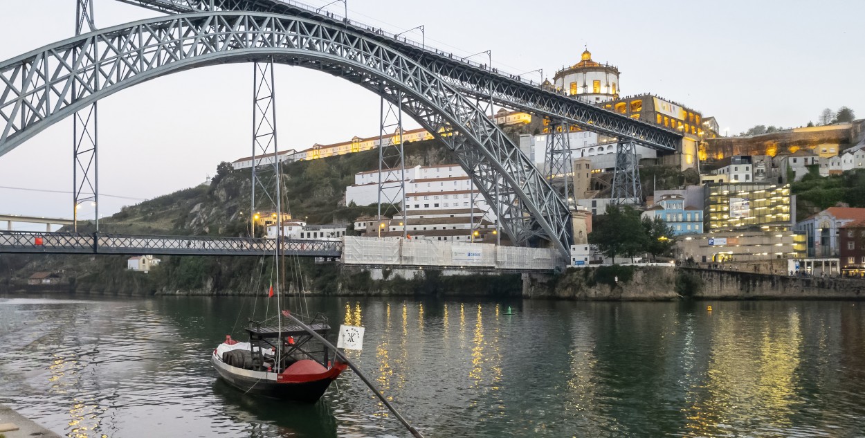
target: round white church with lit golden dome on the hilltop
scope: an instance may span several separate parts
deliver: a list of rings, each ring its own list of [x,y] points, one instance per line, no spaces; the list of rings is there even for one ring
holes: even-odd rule
[[[586,49],[580,62],[555,72],[554,87],[590,103],[618,99],[618,68],[592,61]]]

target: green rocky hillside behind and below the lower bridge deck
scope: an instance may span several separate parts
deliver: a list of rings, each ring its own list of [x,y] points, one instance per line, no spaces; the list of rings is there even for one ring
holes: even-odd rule
[[[406,166],[452,163],[453,158],[436,140],[407,144]],[[351,222],[358,216],[375,214],[370,206],[344,205],[345,187],[355,183],[355,174],[378,169],[378,151],[301,161],[283,166],[283,205],[294,217],[310,223]],[[170,195],[124,207],[99,223],[102,233],[140,235],[247,236],[250,233],[251,172],[234,171],[222,163],[211,184],[178,190]],[[262,177],[267,182],[266,172]],[[272,183],[272,177],[271,181]],[[260,193],[260,192],[259,192]],[[265,196],[256,196],[266,200]],[[273,209],[272,203],[257,203],[257,209]],[[93,224],[79,224],[93,231]],[[257,228],[256,234],[264,230]],[[126,270],[125,256],[17,255],[0,257],[0,284],[26,279],[36,271],[63,272],[80,292],[90,293],[255,293],[253,285],[271,277],[270,263],[259,257],[161,256],[162,263],[150,274]],[[300,261],[306,287],[326,292],[337,283],[336,268]],[[338,280],[337,280],[338,278]],[[263,283],[261,283],[263,284]],[[258,291],[260,292],[260,291]]]

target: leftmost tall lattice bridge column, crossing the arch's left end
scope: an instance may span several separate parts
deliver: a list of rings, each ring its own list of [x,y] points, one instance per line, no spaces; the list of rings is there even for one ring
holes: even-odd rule
[[[96,30],[93,22],[93,2],[91,0],[76,0],[75,5],[75,35]],[[87,54],[95,59],[99,56],[95,45],[86,48],[93,53]],[[73,65],[83,54],[80,50],[73,52]],[[99,74],[93,74],[88,84],[93,89],[99,88]],[[72,82],[72,99],[79,98],[80,87],[78,82]],[[97,124],[97,104],[81,110],[73,116],[73,217],[74,229],[78,230],[78,209],[81,203],[93,201],[95,209],[93,212],[96,229],[99,230],[99,141]],[[50,225],[49,229],[50,231]]]

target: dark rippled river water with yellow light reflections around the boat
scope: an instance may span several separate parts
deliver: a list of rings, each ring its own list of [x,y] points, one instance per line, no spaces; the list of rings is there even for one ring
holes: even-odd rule
[[[315,405],[219,381],[253,306],[0,297],[0,403],[76,437],[409,436],[351,372]],[[349,356],[426,437],[865,436],[862,302],[309,306],[366,327]]]

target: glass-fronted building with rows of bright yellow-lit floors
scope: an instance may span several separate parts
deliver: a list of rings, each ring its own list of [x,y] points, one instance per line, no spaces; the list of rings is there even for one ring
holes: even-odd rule
[[[791,228],[789,184],[706,184],[703,196],[706,232]]]

